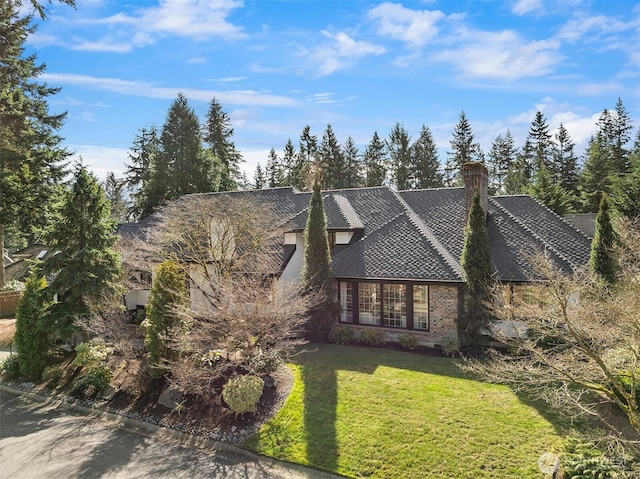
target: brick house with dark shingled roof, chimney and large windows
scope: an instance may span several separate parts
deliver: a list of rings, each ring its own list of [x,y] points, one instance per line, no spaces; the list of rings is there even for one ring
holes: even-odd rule
[[[567,273],[587,264],[590,238],[563,218],[530,196],[489,197],[488,172],[480,163],[466,164],[463,177],[459,188],[323,192],[339,323],[380,328],[388,340],[415,335],[425,345],[456,334],[465,291],[460,257],[475,189],[487,213],[496,274],[509,295],[529,282],[527,253],[543,250]],[[311,193],[275,188],[211,194],[269,205],[286,230],[276,276],[283,284],[299,280]]]

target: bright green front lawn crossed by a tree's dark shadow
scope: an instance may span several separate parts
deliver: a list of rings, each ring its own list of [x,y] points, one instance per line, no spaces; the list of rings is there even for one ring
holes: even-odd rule
[[[284,408],[244,447],[347,477],[541,478],[563,437],[504,386],[459,360],[312,345],[291,364]]]

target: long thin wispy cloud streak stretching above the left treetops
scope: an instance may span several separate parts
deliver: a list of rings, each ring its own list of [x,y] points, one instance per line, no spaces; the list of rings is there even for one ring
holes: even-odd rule
[[[149,82],[134,82],[117,78],[101,78],[89,75],[75,75],[68,73],[45,73],[41,79],[62,85],[77,85],[96,90],[105,90],[148,98],[174,98],[178,91],[182,91],[187,98],[198,101],[210,101],[216,98],[222,103],[230,105],[254,105],[293,107],[298,102],[289,97],[273,95],[255,90],[202,90],[195,88],[161,87]]]

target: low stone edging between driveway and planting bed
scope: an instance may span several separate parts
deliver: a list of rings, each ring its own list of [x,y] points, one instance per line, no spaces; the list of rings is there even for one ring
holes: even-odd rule
[[[272,469],[285,470],[288,472],[295,471],[295,473],[299,474],[300,476],[307,477],[309,479],[336,479],[344,477],[329,472],[308,468],[301,464],[279,461],[278,459],[274,459],[268,456],[262,456],[247,449],[234,446],[233,444],[228,444],[222,441],[216,441],[215,439],[211,439],[208,437],[196,436],[193,434],[178,431],[177,429],[167,428],[157,424],[140,421],[138,419],[126,417],[121,414],[104,411],[98,407],[89,407],[70,401],[64,401],[62,399],[54,397],[43,396],[35,392],[25,391],[12,386],[8,386],[2,382],[0,382],[0,391],[4,391],[13,396],[21,396],[33,402],[55,405],[56,407],[63,410],[70,409],[83,415],[93,416],[97,419],[103,419],[108,422],[117,423],[118,426],[122,426],[130,432],[140,434],[145,437],[159,437],[162,439],[168,439],[177,442],[184,446],[221,451],[228,456],[242,457],[246,460],[260,462]]]

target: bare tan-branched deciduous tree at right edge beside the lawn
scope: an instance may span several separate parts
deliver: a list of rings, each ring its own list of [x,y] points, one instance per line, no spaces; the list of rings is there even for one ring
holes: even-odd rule
[[[490,361],[468,360],[465,369],[542,399],[561,414],[595,416],[612,433],[609,438],[626,429],[638,439],[640,230],[637,224],[619,229],[616,286],[603,285],[586,269],[564,275],[547,257],[536,256],[534,271],[547,281],[501,311],[524,320],[527,334],[503,334],[511,354],[492,352]],[[631,430],[613,421],[612,411],[622,411]]]

